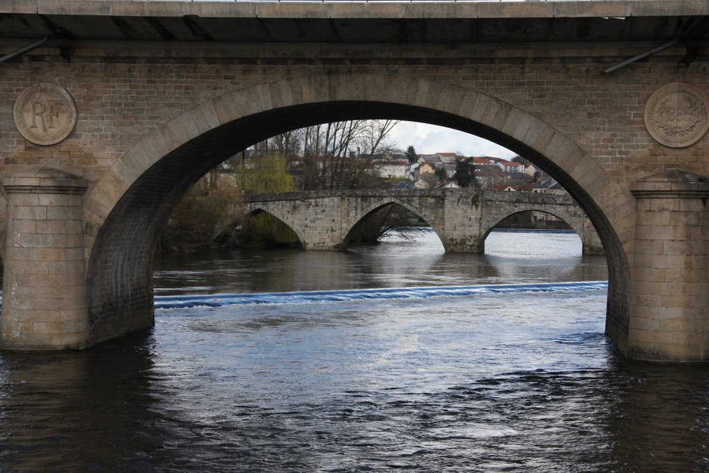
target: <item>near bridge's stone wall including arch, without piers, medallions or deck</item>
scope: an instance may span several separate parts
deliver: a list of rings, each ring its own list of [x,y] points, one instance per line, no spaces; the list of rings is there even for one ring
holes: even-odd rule
[[[637,235],[630,183],[673,167],[709,174],[708,135],[670,148],[644,125],[658,87],[686,82],[706,94],[705,44],[602,74],[654,46],[54,41],[0,64],[0,177],[53,166],[86,180],[88,346],[150,326],[157,234],[218,162],[275,133],[347,118],[457,128],[541,165],[583,206],[608,255],[607,332],[625,350]],[[74,99],[77,124],[61,143],[34,145],[14,124],[13,104],[37,83]]]

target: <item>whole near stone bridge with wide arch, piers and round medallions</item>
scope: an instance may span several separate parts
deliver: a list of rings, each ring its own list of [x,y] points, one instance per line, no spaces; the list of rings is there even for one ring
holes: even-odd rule
[[[709,357],[709,4],[0,2],[0,345],[152,326],[174,203],[271,135],[398,118],[537,163],[608,258],[630,357]],[[405,145],[405,144],[404,144]]]

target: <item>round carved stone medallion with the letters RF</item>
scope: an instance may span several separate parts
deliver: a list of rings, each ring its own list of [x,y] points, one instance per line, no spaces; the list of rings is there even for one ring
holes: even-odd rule
[[[54,84],[35,84],[23,90],[13,111],[15,125],[36,145],[64,140],[77,123],[77,106],[67,91]]]

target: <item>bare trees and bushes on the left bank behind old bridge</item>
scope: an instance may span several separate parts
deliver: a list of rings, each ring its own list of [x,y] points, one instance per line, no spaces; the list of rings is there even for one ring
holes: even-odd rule
[[[382,179],[373,175],[373,162],[377,152],[392,148],[387,137],[396,123],[323,123],[281,133],[230,157],[177,203],[160,250],[298,245],[296,233],[274,216],[245,216],[244,195],[379,187]]]

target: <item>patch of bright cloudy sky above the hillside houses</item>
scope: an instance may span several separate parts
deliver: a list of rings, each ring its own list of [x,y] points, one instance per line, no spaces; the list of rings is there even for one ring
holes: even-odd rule
[[[408,145],[413,145],[420,155],[460,151],[464,156],[486,155],[507,159],[516,156],[516,153],[491,141],[462,131],[428,125],[428,123],[402,121],[395,130],[392,130],[391,139],[404,151]]]

